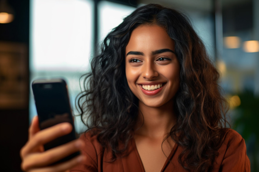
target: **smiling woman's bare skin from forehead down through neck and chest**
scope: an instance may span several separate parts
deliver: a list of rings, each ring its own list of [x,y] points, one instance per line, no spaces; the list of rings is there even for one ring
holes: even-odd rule
[[[176,122],[172,105],[180,85],[180,64],[174,49],[174,41],[156,24],[134,29],[125,49],[127,82],[143,115],[138,118],[141,123],[135,126],[134,139],[146,171],[161,171],[175,145],[172,139],[163,144]],[[156,150],[155,156],[150,150]]]

